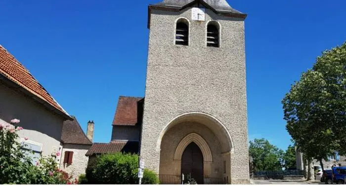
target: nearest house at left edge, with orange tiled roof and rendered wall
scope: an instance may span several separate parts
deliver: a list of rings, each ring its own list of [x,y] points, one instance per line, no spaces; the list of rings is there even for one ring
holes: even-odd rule
[[[72,119],[39,81],[0,45],[0,122],[9,124],[14,118],[19,119],[19,125],[24,128],[19,132],[19,140],[34,151],[30,154],[33,163],[40,155],[55,157],[56,152],[61,151],[63,122]]]

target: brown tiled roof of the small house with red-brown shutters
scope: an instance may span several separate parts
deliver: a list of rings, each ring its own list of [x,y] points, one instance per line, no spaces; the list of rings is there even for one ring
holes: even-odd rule
[[[80,145],[92,145],[92,142],[87,138],[87,135],[83,132],[83,129],[77,118],[71,116],[73,120],[64,121],[62,127],[61,141],[65,144],[80,144]]]

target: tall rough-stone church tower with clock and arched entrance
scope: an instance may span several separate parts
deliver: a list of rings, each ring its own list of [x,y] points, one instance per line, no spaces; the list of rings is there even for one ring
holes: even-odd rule
[[[199,184],[249,184],[246,14],[226,0],[163,0],[148,18],[145,166]]]

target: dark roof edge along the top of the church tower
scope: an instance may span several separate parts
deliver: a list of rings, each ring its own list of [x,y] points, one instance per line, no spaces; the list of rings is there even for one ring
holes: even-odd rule
[[[149,4],[148,5],[148,29],[150,29],[151,9],[178,12],[186,8],[187,6],[189,6],[191,3],[186,4],[185,6],[165,6],[165,5],[158,5],[158,4]],[[245,13],[235,13],[235,12],[226,11],[226,10],[216,10],[211,6],[209,6],[209,8],[212,9],[216,14],[220,16],[236,17],[236,18],[243,18],[243,19],[245,19],[248,16],[248,14],[245,14]]]

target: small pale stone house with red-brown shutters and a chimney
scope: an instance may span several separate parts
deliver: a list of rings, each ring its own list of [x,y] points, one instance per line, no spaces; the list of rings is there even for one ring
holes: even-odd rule
[[[94,130],[93,121],[87,123],[87,135],[83,132],[81,125],[75,116],[73,120],[66,120],[62,128],[61,141],[63,143],[60,169],[77,178],[85,174],[88,158],[87,151],[92,145]]]

